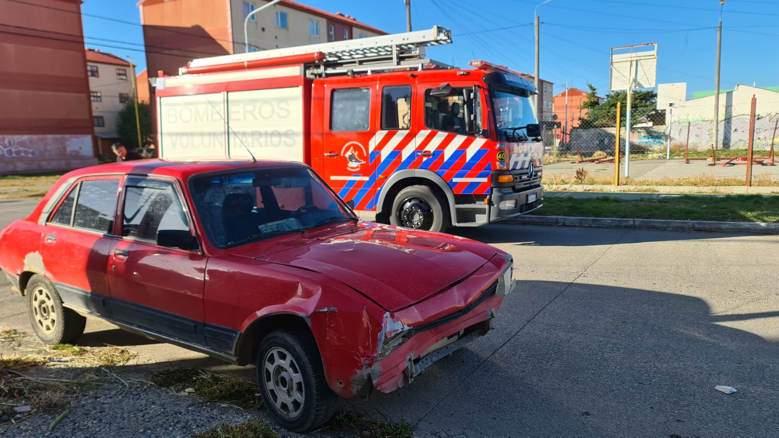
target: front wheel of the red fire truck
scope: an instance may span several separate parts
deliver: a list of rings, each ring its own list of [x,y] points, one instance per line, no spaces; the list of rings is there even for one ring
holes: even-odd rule
[[[445,217],[446,202],[428,186],[412,185],[400,191],[392,206],[390,223],[419,230],[441,232],[449,222]]]

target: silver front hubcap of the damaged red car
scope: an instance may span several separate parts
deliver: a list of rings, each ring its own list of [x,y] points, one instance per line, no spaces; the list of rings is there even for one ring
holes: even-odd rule
[[[273,347],[263,360],[263,385],[276,408],[288,419],[300,415],[305,401],[303,375],[292,355],[281,347]]]

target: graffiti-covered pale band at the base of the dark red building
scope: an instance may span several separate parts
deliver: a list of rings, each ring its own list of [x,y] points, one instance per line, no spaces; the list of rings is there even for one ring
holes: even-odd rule
[[[91,135],[0,135],[0,161],[78,159],[91,156]]]

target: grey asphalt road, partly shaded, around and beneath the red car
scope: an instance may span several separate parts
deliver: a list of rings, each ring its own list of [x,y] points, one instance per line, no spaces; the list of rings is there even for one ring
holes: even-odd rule
[[[0,202],[0,226],[34,203]],[[407,387],[349,401],[354,409],[403,417],[418,436],[779,430],[779,237],[516,225],[457,233],[513,254],[520,281],[495,330]],[[0,324],[30,331],[24,304],[0,280]],[[80,343],[125,345],[139,352],[131,366],[253,374],[100,321]]]

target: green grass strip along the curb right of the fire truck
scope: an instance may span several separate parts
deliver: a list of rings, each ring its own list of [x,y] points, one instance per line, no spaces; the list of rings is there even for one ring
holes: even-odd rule
[[[682,195],[660,199],[548,197],[544,199],[543,208],[530,214],[777,223],[779,197],[760,194]]]

